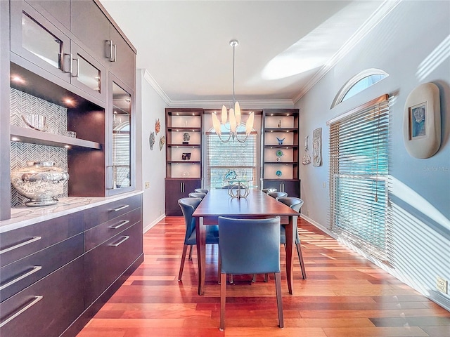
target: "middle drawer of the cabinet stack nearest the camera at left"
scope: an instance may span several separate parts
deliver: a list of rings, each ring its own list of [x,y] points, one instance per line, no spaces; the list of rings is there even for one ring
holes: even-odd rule
[[[83,233],[0,268],[0,302],[84,253]]]

